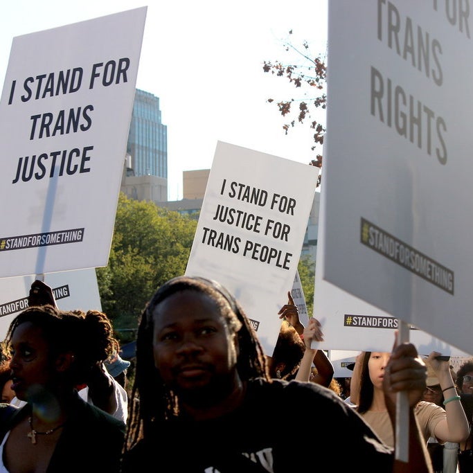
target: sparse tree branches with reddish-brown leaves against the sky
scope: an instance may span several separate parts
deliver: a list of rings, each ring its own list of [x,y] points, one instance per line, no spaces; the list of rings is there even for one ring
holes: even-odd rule
[[[289,31],[289,35],[292,35],[292,30]],[[288,53],[296,54],[301,63],[296,64],[284,63],[280,61],[265,61],[263,71],[271,73],[277,77],[283,77],[289,80],[289,83],[293,84],[296,89],[300,89],[300,93],[303,98],[290,100],[278,100],[276,105],[278,106],[279,112],[282,116],[287,117],[289,121],[283,125],[285,134],[289,132],[289,129],[294,127],[296,123],[307,123],[314,130],[311,150],[316,152],[319,145],[323,145],[323,136],[325,134],[325,125],[319,123],[316,120],[316,109],[325,110],[327,104],[326,89],[326,72],[327,67],[325,66],[325,58],[322,55],[313,56],[309,51],[309,44],[304,41],[301,48],[297,48],[291,42],[283,42],[285,51]],[[316,95],[314,96],[314,91]],[[274,98],[268,98],[269,103],[274,102]],[[294,111],[294,105],[298,102],[298,107]],[[296,117],[294,117],[296,115]],[[294,118],[292,118],[294,117]],[[310,165],[316,166],[317,168],[322,167],[322,155],[316,154],[314,159],[310,161]],[[320,175],[317,181],[317,186],[320,185]]]

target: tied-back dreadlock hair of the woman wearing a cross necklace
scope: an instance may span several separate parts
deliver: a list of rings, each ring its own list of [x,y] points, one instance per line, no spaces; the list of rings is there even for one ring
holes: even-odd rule
[[[67,373],[72,384],[84,384],[93,364],[103,362],[116,350],[111,321],[98,310],[65,311],[53,305],[35,305],[20,312],[13,319],[2,343],[3,356],[9,357],[12,336],[21,323],[30,322],[42,330],[51,359],[65,352],[73,352],[74,362]]]

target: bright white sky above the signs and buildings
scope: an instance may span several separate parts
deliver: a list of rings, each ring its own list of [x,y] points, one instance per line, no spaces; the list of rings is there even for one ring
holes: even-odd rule
[[[325,54],[328,0],[15,0],[2,5],[0,83],[15,36],[148,6],[136,87],[159,97],[168,127],[168,199],[182,198],[182,173],[210,169],[217,141],[310,163],[313,132],[285,135],[278,100],[303,99],[266,61],[299,62],[285,42]],[[289,35],[289,30],[293,34]],[[310,96],[309,96],[310,98]],[[307,99],[307,97],[306,97]],[[316,117],[322,121],[323,115]],[[321,150],[319,150],[321,153]]]

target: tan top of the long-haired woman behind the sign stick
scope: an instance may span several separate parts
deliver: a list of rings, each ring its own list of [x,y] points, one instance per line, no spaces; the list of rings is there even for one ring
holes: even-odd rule
[[[427,401],[420,401],[416,406],[415,413],[422,436],[425,438],[427,445],[429,437],[435,437],[436,425],[440,420],[447,418],[447,413],[445,413],[445,409],[442,407]],[[394,431],[391,426],[391,420],[389,420],[388,411],[368,411],[361,416],[386,445],[394,447]]]

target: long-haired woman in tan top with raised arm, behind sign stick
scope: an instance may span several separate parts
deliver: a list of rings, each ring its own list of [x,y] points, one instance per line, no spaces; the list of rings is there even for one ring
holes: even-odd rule
[[[357,412],[368,422],[368,425],[371,425],[384,443],[393,446],[395,436],[393,427],[389,423],[389,413],[383,393],[383,380],[386,377],[391,354],[389,352],[364,352],[362,356],[360,355],[355,362],[355,364],[361,362],[360,375],[359,379],[355,378],[355,370],[357,369],[355,366],[351,385],[351,400],[357,404]],[[460,396],[456,395],[449,362],[438,360],[436,357],[439,355],[438,352],[431,352],[427,362],[434,368],[440,386],[447,396],[443,402],[445,409],[420,399],[415,409],[426,445],[429,437],[435,437],[440,443],[461,442],[467,438],[469,431],[465,412],[459,402]]]

